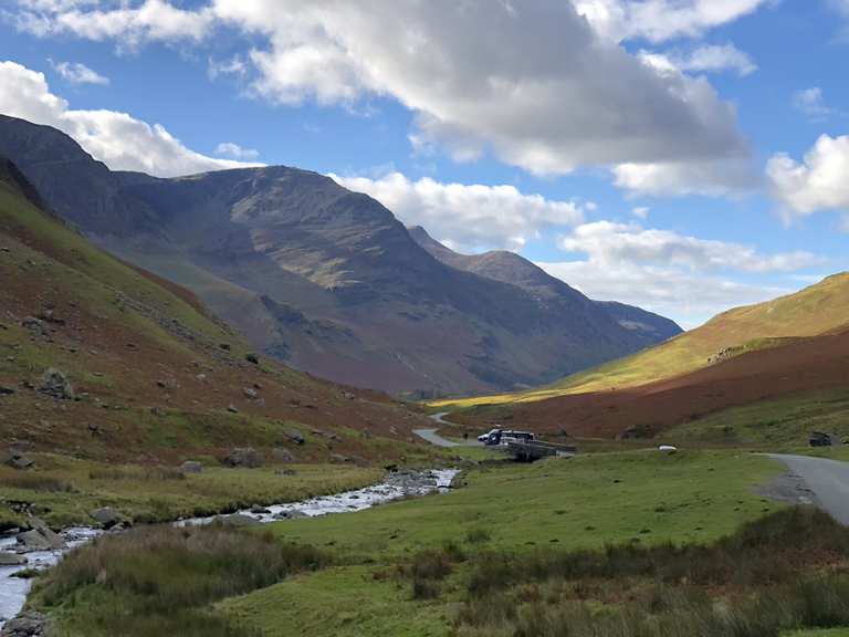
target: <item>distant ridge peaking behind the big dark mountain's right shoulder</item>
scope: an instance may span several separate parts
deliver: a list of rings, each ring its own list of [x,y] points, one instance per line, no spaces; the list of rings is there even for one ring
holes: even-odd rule
[[[447,265],[516,285],[533,295],[539,303],[559,301],[568,305],[586,304],[588,301],[580,292],[515,252],[493,250],[482,254],[460,254],[433,239],[421,226],[415,226],[408,230],[419,246]],[[640,307],[604,301],[590,303],[629,330],[632,336],[640,340],[646,347],[681,334],[681,327],[674,321]]]

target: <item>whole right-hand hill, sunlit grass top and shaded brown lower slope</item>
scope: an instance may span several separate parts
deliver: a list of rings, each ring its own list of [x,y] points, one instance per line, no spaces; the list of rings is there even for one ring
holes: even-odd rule
[[[730,310],[661,345],[546,387],[451,406],[493,405],[474,418],[499,411],[593,434],[636,425],[662,430],[731,406],[845,386],[848,346],[845,272],[795,294]]]

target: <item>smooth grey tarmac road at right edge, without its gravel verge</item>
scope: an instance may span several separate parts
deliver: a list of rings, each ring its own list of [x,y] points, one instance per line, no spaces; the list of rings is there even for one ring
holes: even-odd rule
[[[810,456],[769,453],[769,457],[787,464],[790,472],[805,482],[816,504],[841,524],[849,525],[849,463]],[[801,494],[803,501],[804,498]]]

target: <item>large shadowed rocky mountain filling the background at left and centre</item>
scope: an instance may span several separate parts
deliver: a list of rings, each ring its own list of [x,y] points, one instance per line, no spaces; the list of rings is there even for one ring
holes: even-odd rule
[[[99,246],[332,380],[413,395],[514,389],[664,337],[568,286],[548,294],[449,265],[379,202],[315,173],[115,173],[59,130],[4,116],[0,154]]]

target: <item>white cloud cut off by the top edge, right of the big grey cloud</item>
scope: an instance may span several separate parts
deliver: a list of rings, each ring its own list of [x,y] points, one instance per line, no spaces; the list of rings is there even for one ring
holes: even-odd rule
[[[575,0],[593,27],[614,40],[699,38],[772,0]]]

